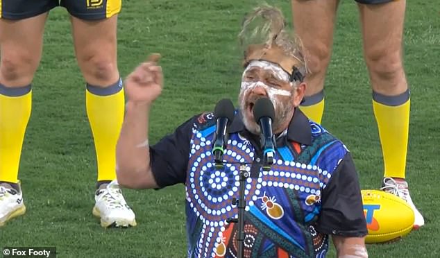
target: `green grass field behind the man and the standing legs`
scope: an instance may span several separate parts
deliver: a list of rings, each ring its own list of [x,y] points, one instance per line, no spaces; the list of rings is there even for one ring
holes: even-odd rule
[[[268,1],[290,18],[290,1]],[[235,101],[241,76],[237,33],[256,1],[125,0],[119,16],[119,69],[126,76],[150,52],[162,54],[165,87],[155,102],[150,141],[172,132],[220,98]],[[92,216],[96,163],[67,12],[53,10],[33,87],[33,113],[20,166],[25,216],[0,229],[3,246],[55,246],[58,257],[185,257],[185,193],[124,190],[138,226],[103,229]],[[405,69],[412,89],[407,179],[426,225],[370,257],[440,257],[440,6],[407,2]],[[380,187],[382,154],[362,58],[354,1],[341,1],[326,81],[323,125],[353,153],[363,189]],[[437,201],[436,201],[437,200]],[[334,257],[335,252],[330,252]]]

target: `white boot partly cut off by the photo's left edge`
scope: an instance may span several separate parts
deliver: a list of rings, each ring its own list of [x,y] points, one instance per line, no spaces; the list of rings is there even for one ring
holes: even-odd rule
[[[17,191],[8,183],[0,184],[0,227],[11,218],[23,215],[26,207],[23,203],[22,191]]]

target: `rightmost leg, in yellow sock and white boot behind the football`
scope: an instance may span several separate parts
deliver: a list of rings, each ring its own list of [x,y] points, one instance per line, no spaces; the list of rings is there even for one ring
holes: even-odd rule
[[[361,1],[359,1],[361,2]],[[409,89],[403,69],[405,0],[359,3],[364,56],[373,88],[373,110],[384,159],[384,185],[405,198],[416,213],[415,227],[424,224],[414,207],[405,166],[409,131]],[[382,3],[379,3],[382,2]],[[397,188],[396,188],[397,187]]]

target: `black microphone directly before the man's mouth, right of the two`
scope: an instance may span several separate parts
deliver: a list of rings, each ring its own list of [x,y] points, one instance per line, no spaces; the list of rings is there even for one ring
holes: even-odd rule
[[[253,106],[253,117],[261,128],[261,145],[263,148],[263,169],[270,169],[275,157],[276,141],[272,132],[272,121],[275,109],[269,98],[259,98]]]

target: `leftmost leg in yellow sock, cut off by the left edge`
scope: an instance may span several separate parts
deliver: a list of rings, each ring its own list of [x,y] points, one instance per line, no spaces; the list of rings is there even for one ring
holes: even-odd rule
[[[51,3],[0,1],[0,226],[24,214],[18,172]],[[26,6],[26,7],[24,7]]]

